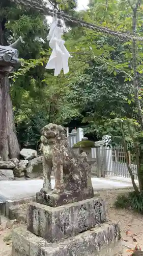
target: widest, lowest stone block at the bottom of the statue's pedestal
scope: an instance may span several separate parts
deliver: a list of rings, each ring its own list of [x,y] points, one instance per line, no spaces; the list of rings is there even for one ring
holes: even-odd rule
[[[113,256],[122,251],[120,239],[118,224],[103,224],[52,244],[18,228],[13,230],[12,256]]]

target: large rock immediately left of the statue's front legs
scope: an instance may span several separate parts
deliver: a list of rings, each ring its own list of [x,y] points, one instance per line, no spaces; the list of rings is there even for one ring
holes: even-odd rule
[[[43,174],[42,157],[32,159],[26,167],[26,176],[37,178]]]

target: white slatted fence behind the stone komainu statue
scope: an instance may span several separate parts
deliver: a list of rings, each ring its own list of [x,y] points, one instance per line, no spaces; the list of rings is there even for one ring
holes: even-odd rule
[[[72,147],[84,137],[83,129],[74,129],[71,133],[69,133],[67,129],[67,137],[69,146]],[[104,136],[104,139],[106,139],[106,136]],[[104,139],[102,141],[95,142],[95,148],[91,148],[91,157],[96,159],[96,173],[98,173],[99,177],[110,175],[130,178],[125,159],[124,147],[118,144],[112,147],[103,146]],[[128,154],[129,165],[132,168],[134,178],[137,179],[135,156],[131,154],[130,150],[128,151]]]

